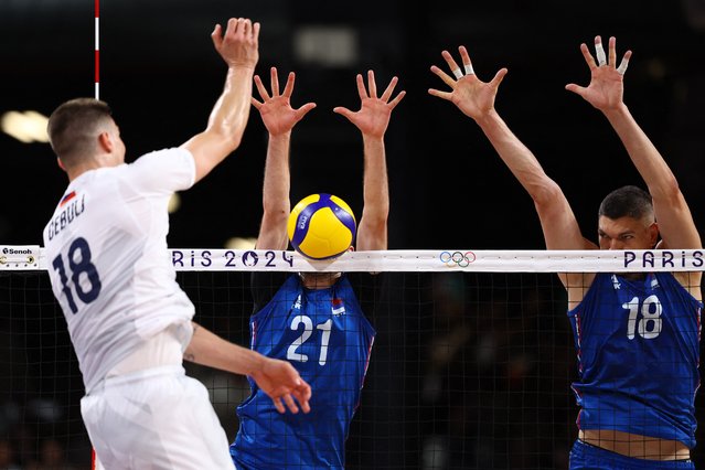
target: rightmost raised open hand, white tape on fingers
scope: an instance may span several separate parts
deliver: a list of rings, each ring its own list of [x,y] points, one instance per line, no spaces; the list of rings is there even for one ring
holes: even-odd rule
[[[590,54],[588,46],[580,44],[580,51],[590,67],[590,84],[583,87],[576,84],[566,85],[568,92],[580,95],[586,102],[595,106],[601,111],[615,109],[623,102],[624,96],[624,72],[629,65],[631,51],[627,51],[617,66],[617,40],[612,36],[609,39],[609,54],[605,56],[602,47],[602,39],[595,38],[595,54],[597,62]]]

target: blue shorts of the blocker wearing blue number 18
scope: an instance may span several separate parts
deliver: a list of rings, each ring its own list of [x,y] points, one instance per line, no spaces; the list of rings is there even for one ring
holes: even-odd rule
[[[644,460],[622,456],[576,440],[570,450],[570,470],[695,470],[692,460]]]

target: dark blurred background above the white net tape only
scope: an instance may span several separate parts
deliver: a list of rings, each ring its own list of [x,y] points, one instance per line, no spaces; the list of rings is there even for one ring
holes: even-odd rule
[[[506,66],[496,107],[574,204],[595,239],[602,196],[642,184],[599,111],[564,89],[587,85],[579,44],[617,38],[634,52],[626,103],[703,214],[705,1],[585,2],[498,0],[451,7],[402,1],[103,0],[100,97],[114,108],[128,160],[179,146],[205,127],[225,65],[210,33],[231,17],[261,22],[257,72],[295,71],[293,106],[318,108],[292,136],[293,202],[332,192],[362,211],[362,139],[332,113],[359,109],[355,74],[372,68],[378,87],[399,77],[407,97],[386,135],[392,197],[391,248],[542,248],[533,204],[474,122],[428,95],[445,84],[444,49],[464,44],[483,81]],[[94,96],[94,2],[0,0],[0,116],[39,111]],[[202,183],[181,194],[172,247],[222,247],[255,237],[261,215],[267,133],[253,108],[243,146]],[[46,143],[0,132],[3,174],[0,243],[41,244],[66,178]],[[521,227],[521,233],[517,228]]]

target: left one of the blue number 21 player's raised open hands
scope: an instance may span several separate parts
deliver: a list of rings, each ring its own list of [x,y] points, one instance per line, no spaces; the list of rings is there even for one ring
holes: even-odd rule
[[[257,86],[261,102],[253,97],[252,104],[259,111],[267,131],[269,131],[273,136],[280,136],[291,131],[293,126],[296,126],[296,124],[300,121],[308,111],[316,107],[316,103],[307,103],[298,109],[293,109],[291,107],[291,94],[293,93],[295,81],[295,73],[289,72],[289,77],[287,78],[287,84],[284,87],[284,93],[279,94],[279,77],[277,75],[277,68],[271,67],[270,96],[267,88],[261,83],[259,75],[255,75],[255,85]]]

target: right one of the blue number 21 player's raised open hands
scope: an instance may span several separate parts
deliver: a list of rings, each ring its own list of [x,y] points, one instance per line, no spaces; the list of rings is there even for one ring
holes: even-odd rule
[[[394,99],[389,100],[398,82],[397,77],[393,77],[382,96],[377,98],[377,85],[373,71],[367,71],[367,89],[361,74],[357,74],[356,81],[361,100],[360,110],[351,111],[342,106],[337,106],[333,108],[333,113],[346,117],[365,136],[383,137],[389,125],[392,110],[404,98],[406,92],[399,92]]]

